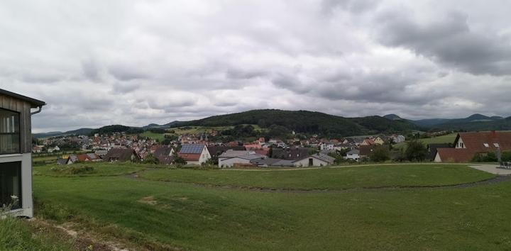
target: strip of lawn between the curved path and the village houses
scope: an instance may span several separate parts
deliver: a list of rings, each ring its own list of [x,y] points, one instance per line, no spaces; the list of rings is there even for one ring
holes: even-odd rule
[[[158,169],[141,177],[165,182],[255,186],[278,189],[351,189],[374,186],[432,186],[474,182],[494,177],[466,165],[397,164],[295,171],[197,172],[189,169]]]

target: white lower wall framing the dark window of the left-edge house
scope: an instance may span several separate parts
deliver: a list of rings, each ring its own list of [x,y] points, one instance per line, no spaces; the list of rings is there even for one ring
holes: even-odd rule
[[[11,211],[15,216],[33,217],[32,154],[0,155],[0,163],[21,162],[21,208]]]

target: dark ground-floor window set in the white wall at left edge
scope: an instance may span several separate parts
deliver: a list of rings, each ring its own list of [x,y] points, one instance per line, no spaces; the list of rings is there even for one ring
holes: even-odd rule
[[[4,205],[21,208],[21,162],[0,163],[0,206]]]

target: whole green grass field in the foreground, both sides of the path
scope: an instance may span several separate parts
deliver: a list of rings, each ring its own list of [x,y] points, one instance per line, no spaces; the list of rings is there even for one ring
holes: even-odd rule
[[[363,189],[458,184],[492,177],[463,165],[292,171],[134,165],[126,172],[121,167],[130,164],[93,167],[97,173],[89,177],[58,177],[48,167],[35,167],[39,174],[33,182],[35,198],[67,212],[55,217],[59,221],[84,218],[101,225],[96,230],[118,229],[120,233],[114,235],[140,245],[151,242],[187,250],[511,248],[511,182],[468,188]],[[142,178],[127,175],[136,169]],[[332,191],[253,191],[236,186]],[[338,190],[347,188],[353,189]],[[36,213],[52,218],[54,211]]]

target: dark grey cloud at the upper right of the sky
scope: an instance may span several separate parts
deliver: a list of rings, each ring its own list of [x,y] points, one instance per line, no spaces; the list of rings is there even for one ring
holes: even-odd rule
[[[511,39],[476,33],[468,16],[446,13],[440,20],[417,23],[407,13],[391,12],[378,17],[378,39],[388,46],[408,48],[446,66],[473,74],[511,73]]]

